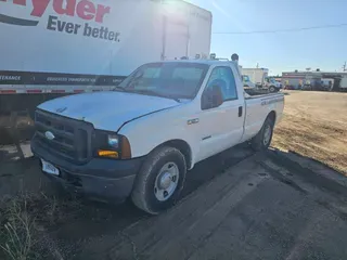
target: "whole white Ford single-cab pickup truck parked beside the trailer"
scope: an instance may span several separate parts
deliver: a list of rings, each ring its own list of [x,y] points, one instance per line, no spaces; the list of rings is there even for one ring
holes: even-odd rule
[[[150,63],[114,91],[39,105],[31,151],[67,190],[131,196],[155,214],[175,204],[196,162],[245,141],[266,150],[283,105],[280,93],[245,93],[235,62]]]

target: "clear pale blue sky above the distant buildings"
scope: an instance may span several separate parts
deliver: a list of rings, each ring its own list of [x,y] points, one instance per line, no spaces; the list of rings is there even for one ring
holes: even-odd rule
[[[347,0],[188,0],[213,12],[213,32],[292,29],[347,23]],[[347,26],[294,32],[216,35],[211,52],[240,55],[243,67],[307,67],[340,72],[347,61]]]

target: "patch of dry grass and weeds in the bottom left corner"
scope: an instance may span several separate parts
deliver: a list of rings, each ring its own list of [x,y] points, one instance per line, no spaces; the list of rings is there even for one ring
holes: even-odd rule
[[[21,193],[1,205],[0,259],[62,259],[56,257],[59,252],[49,242],[46,229],[75,216],[80,210],[78,200]]]

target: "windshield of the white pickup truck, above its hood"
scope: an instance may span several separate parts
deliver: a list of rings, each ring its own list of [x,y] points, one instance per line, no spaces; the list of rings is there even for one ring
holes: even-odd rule
[[[207,69],[208,65],[198,63],[150,63],[139,67],[119,87],[169,99],[194,99]]]

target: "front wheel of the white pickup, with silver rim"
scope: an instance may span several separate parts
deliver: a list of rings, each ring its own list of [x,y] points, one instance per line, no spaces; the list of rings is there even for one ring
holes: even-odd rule
[[[168,172],[177,172],[177,170],[178,177],[175,178],[175,182],[174,176],[169,176]],[[169,146],[154,150],[144,161],[136,179],[131,193],[133,204],[151,214],[158,214],[170,208],[176,204],[183,190],[185,173],[185,159],[179,150]],[[160,182],[160,180],[164,181]],[[170,187],[176,185],[174,192],[172,188],[160,186],[160,183],[164,183],[163,185],[168,183],[165,180],[169,180]]]

